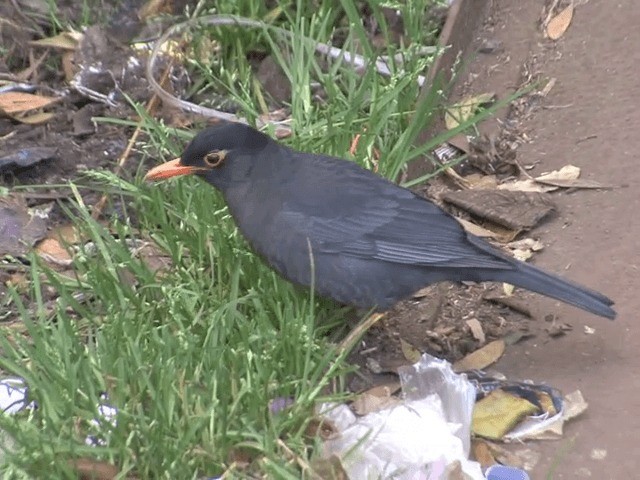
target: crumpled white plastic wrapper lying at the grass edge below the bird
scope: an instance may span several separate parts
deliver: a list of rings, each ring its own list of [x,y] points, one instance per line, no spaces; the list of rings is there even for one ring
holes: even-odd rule
[[[351,479],[439,480],[459,462],[466,478],[484,480],[468,459],[475,389],[451,365],[430,355],[399,369],[405,401],[356,418],[346,405],[321,412],[340,434],[324,454],[340,457]]]

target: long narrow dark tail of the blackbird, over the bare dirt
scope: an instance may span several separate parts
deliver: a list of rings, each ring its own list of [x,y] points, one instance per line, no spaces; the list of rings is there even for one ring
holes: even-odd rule
[[[611,308],[613,301],[605,295],[546,273],[528,263],[517,262],[514,266],[514,270],[496,272],[498,278],[495,280],[555,298],[601,317],[611,320],[616,317],[615,310]]]

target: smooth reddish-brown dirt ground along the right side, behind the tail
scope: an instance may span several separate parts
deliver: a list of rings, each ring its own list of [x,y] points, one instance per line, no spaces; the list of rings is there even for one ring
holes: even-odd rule
[[[519,148],[518,158],[539,163],[537,172],[571,163],[585,178],[613,188],[555,195],[558,214],[534,232],[547,245],[535,262],[610,295],[618,318],[607,322],[535,297],[534,309],[553,308],[573,331],[514,345],[496,368],[509,378],[546,382],[565,393],[580,389],[589,403],[586,414],[568,424],[563,440],[534,444],[542,456],[532,479],[637,478],[640,6],[634,0],[578,2],[571,26],[554,43],[543,39],[538,27],[542,3],[496,0],[492,6],[491,35],[510,56],[491,70],[493,76],[529,62],[557,79],[542,108],[524,124],[532,141]],[[474,68],[486,73],[492,64],[479,58]],[[492,75],[480,76],[474,89],[490,88],[492,81]],[[541,333],[544,321],[531,325]],[[585,333],[586,327],[595,333]],[[597,459],[599,450],[606,451],[604,459]]]

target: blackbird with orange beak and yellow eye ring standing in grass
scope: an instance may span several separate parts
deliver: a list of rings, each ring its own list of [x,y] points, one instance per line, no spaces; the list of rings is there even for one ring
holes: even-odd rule
[[[222,192],[238,229],[272,268],[340,303],[384,311],[434,282],[494,281],[616,315],[606,296],[502,254],[412,191],[247,125],[203,130],[145,179],[187,174]]]

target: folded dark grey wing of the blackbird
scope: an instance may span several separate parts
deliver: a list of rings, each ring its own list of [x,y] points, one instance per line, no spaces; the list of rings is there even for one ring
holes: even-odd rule
[[[434,204],[406,190],[385,190],[366,198],[343,195],[341,205],[313,213],[285,205],[280,220],[318,252],[445,268],[511,268],[469,241],[460,224]]]

